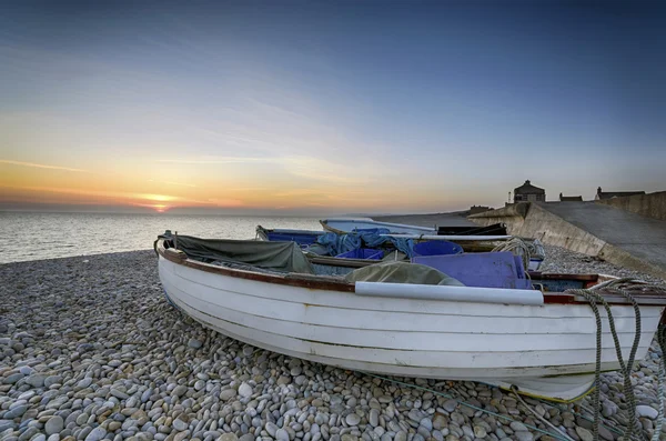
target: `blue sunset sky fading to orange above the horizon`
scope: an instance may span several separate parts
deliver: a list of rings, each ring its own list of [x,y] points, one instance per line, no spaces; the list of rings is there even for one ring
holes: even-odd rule
[[[0,6],[0,210],[498,207],[666,190],[658,2]]]

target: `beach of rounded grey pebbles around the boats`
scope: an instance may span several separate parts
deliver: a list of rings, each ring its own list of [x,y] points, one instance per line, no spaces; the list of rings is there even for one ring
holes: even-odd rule
[[[544,271],[663,283],[546,249]],[[543,420],[593,439],[589,398],[527,408],[482,383],[375,377],[218,334],[165,300],[153,251],[8,263],[0,280],[0,440],[565,440]],[[660,355],[654,342],[632,378],[643,439]],[[603,440],[627,424],[622,384],[602,377]]]

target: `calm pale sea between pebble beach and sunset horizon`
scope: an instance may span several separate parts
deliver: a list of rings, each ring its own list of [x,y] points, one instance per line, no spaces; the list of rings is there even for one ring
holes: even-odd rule
[[[0,263],[152,249],[164,230],[253,239],[258,224],[321,230],[316,218],[0,212]]]

